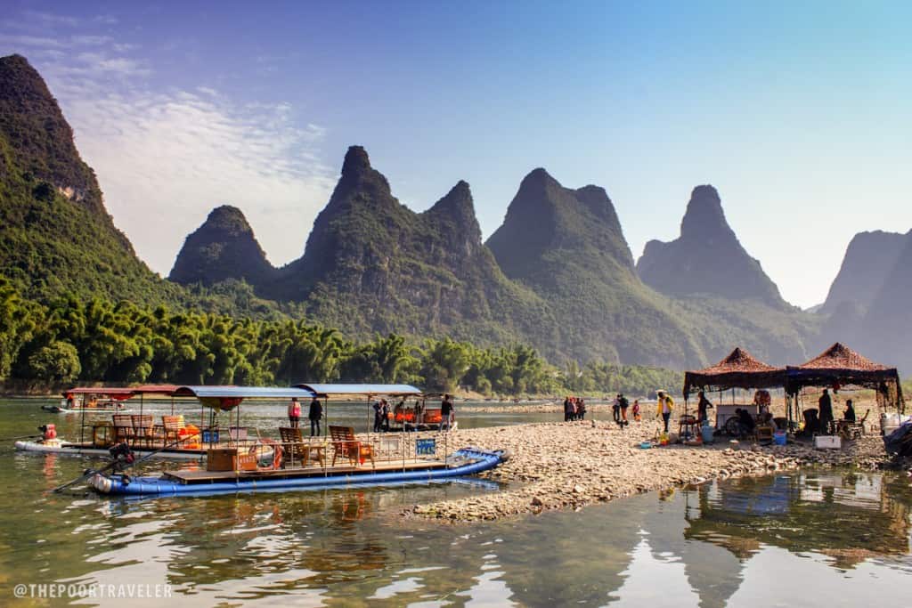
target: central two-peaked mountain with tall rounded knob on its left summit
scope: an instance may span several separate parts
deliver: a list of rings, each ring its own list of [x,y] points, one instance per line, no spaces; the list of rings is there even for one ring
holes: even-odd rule
[[[554,324],[547,304],[507,280],[482,244],[469,184],[458,182],[428,211],[411,211],[358,146],[348,149],[304,256],[264,294],[305,302],[308,314],[360,334],[496,342]]]

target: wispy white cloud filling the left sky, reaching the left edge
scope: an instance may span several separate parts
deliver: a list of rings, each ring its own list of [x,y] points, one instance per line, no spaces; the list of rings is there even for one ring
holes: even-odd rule
[[[47,32],[0,26],[0,54],[25,54],[46,78],[115,223],[154,270],[167,274],[186,235],[224,203],[244,211],[274,263],[303,252],[335,180],[319,160],[323,128],[291,103],[154,88],[162,78],[142,49],[98,32],[115,17],[27,18]]]

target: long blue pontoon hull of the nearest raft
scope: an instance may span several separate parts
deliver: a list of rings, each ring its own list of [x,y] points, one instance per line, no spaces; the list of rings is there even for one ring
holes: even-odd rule
[[[509,454],[505,451],[485,451],[475,448],[460,449],[453,454],[453,459],[466,460],[459,466],[445,469],[420,469],[407,471],[364,472],[311,477],[291,477],[279,479],[235,479],[212,483],[186,484],[171,479],[158,477],[137,477],[124,479],[122,475],[95,475],[88,480],[89,485],[101,494],[119,496],[182,496],[233,494],[237,492],[281,491],[295,489],[324,489],[346,486],[382,486],[400,483],[425,483],[433,480],[464,478],[493,469],[506,461]]]

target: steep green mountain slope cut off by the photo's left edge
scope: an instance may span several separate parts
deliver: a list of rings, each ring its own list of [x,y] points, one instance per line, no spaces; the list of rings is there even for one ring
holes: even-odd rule
[[[0,276],[36,299],[174,301],[105,209],[57,100],[25,57],[0,57]]]

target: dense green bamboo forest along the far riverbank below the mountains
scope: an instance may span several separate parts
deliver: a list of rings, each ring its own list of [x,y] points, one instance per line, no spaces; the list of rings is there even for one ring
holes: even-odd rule
[[[352,342],[337,329],[293,320],[154,308],[75,297],[26,300],[0,278],[0,381],[40,386],[104,382],[290,385],[410,383],[482,395],[647,394],[677,388],[677,372],[570,362],[552,366],[527,345],[479,347],[402,335]]]

